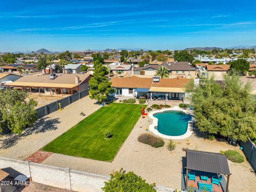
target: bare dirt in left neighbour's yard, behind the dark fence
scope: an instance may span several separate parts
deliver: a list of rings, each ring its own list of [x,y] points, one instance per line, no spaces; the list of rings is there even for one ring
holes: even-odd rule
[[[39,95],[38,93],[32,93],[28,95],[28,98],[33,98],[35,101],[37,101],[37,108],[40,108],[42,106],[45,106],[51,102],[58,101],[60,99],[63,99],[65,96],[47,96],[47,95]]]

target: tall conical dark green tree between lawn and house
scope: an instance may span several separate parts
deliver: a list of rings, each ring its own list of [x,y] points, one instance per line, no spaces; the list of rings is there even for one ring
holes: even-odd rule
[[[107,100],[108,95],[113,93],[114,90],[106,77],[109,73],[107,67],[103,66],[99,60],[93,62],[93,67],[93,77],[89,81],[90,98],[102,103]]]

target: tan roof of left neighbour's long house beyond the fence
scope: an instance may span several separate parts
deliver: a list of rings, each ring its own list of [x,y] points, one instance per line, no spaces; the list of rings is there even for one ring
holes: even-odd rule
[[[79,77],[81,84],[90,74],[58,74],[55,79],[50,79],[49,75],[27,75],[19,78],[9,86],[35,86],[35,87],[56,87],[56,88],[73,88],[79,84],[75,83],[75,78]]]

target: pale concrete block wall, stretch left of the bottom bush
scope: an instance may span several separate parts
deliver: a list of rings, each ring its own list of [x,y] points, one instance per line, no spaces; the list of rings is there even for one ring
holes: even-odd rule
[[[72,191],[102,191],[104,182],[110,179],[109,176],[4,157],[0,157],[0,169],[13,178],[24,174],[34,182]]]

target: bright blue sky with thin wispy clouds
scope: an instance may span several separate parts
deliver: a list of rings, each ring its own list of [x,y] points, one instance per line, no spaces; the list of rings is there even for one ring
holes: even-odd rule
[[[256,45],[256,1],[2,1],[0,52]]]

